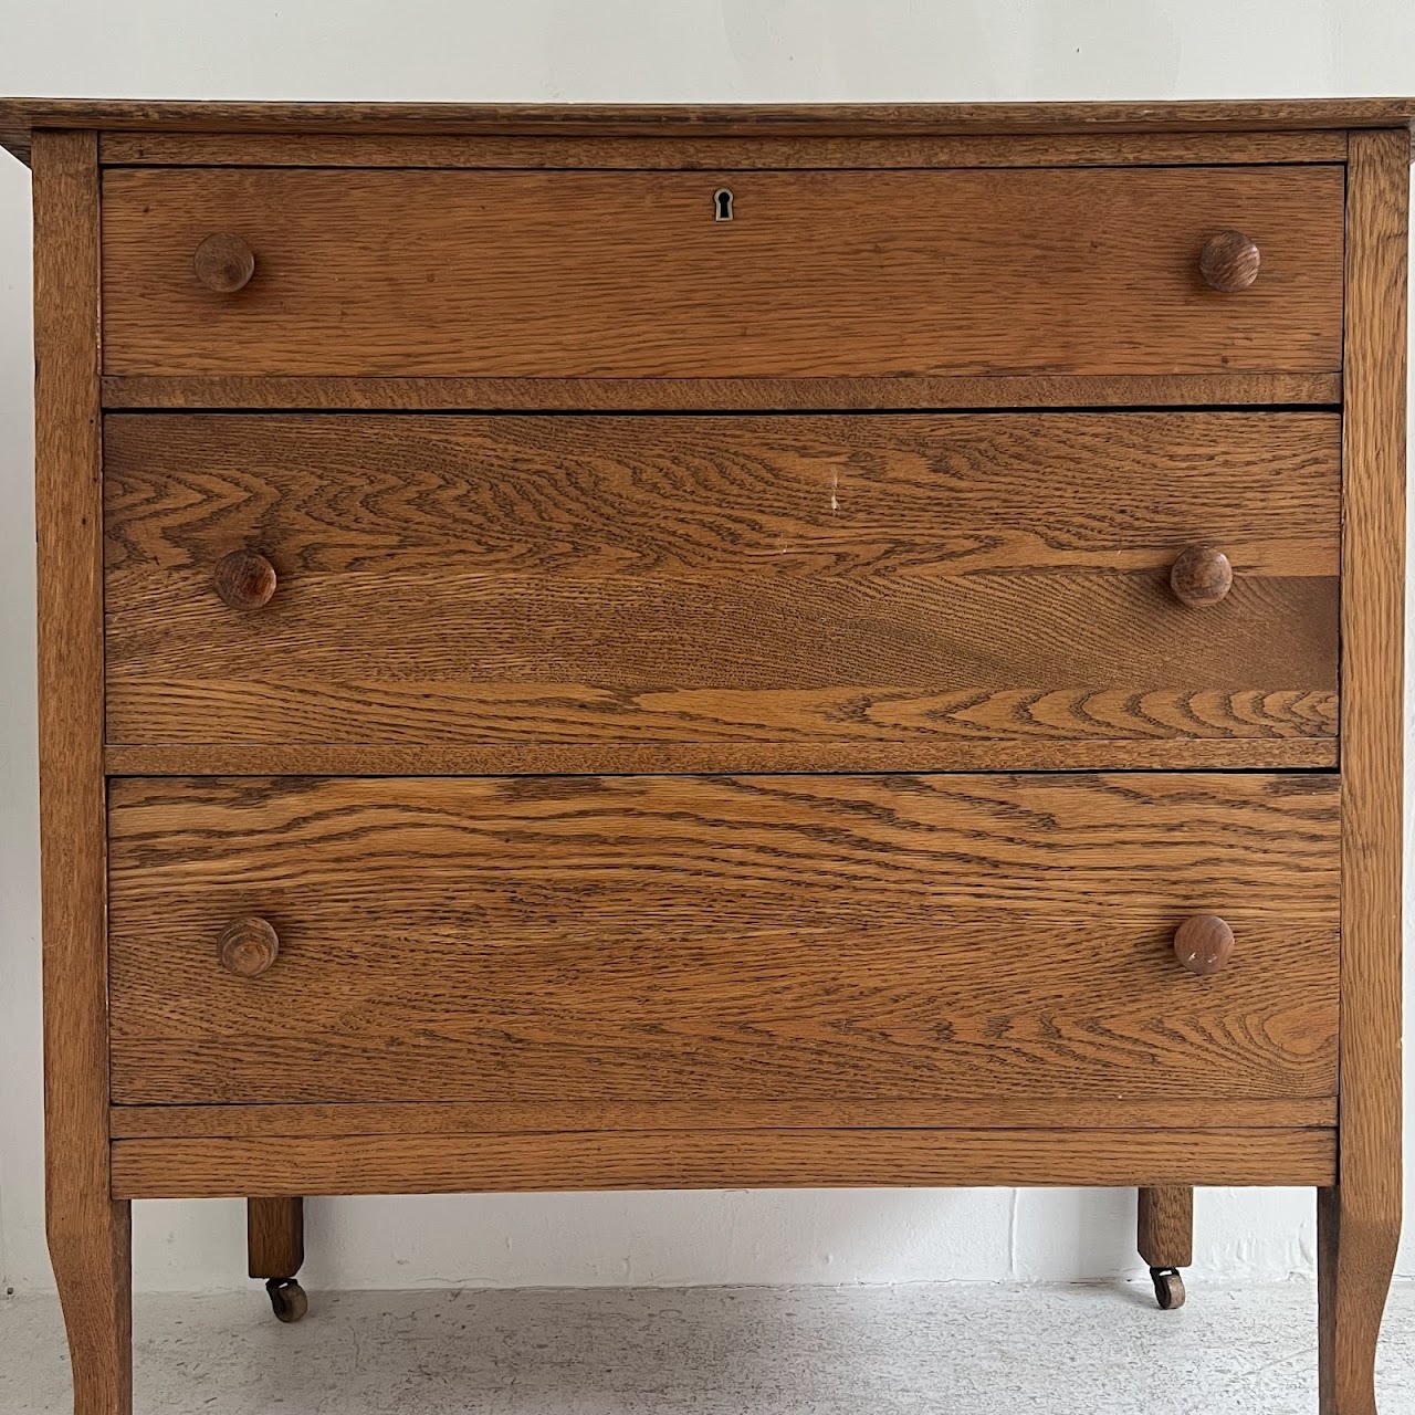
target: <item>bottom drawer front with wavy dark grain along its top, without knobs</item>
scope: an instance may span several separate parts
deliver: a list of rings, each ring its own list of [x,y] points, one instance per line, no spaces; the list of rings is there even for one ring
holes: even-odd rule
[[[1330,1097],[1337,799],[1326,774],[116,780],[113,1095]],[[1173,935],[1210,913],[1232,957],[1196,976]]]

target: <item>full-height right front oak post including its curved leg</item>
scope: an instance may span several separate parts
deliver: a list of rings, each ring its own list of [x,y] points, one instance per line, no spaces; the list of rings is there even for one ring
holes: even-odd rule
[[[1401,778],[1409,143],[1354,134],[1341,545],[1341,1157],[1317,1207],[1323,1415],[1375,1415],[1401,1230]]]

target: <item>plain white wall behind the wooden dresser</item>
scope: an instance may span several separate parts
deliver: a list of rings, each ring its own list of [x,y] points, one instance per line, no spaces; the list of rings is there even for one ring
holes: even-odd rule
[[[0,0],[0,92],[584,102],[1412,93],[1415,4]],[[50,1283],[40,1166],[28,242],[28,178],[4,161],[0,1290],[4,1282]],[[1415,1201],[1408,1207],[1415,1211]],[[241,1283],[241,1217],[229,1203],[136,1206],[139,1285]],[[1133,1196],[1124,1191],[351,1199],[313,1203],[308,1223],[307,1274],[318,1288],[1084,1278],[1136,1268]],[[1196,1259],[1204,1272],[1282,1276],[1309,1271],[1312,1252],[1310,1193],[1200,1196]],[[1402,1271],[1415,1274],[1415,1252]]]

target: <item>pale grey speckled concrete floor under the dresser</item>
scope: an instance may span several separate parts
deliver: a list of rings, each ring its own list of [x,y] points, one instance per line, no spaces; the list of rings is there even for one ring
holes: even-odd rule
[[[1302,1283],[144,1296],[139,1415],[1315,1415]],[[0,1412],[67,1415],[58,1307],[0,1299]],[[1381,1415],[1415,1415],[1415,1285]]]

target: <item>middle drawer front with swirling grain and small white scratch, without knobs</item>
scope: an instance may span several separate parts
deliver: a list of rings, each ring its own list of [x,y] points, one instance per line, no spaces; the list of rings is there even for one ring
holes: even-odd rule
[[[1339,460],[1327,413],[110,416],[109,739],[1261,766],[1337,730]]]

